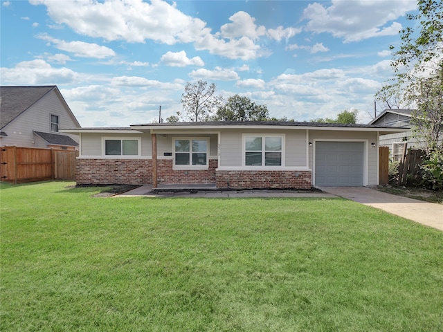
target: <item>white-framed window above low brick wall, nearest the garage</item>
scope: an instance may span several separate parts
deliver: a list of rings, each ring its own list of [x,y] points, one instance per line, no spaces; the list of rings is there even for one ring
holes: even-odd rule
[[[282,166],[282,136],[244,136],[245,166]]]

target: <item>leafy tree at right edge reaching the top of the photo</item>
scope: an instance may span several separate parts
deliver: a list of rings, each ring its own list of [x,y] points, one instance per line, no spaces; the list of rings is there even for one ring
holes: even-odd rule
[[[412,27],[401,30],[401,46],[390,46],[395,76],[379,93],[395,95],[415,109],[414,132],[425,147],[442,151],[443,117],[443,2],[418,0],[418,12],[408,15]]]

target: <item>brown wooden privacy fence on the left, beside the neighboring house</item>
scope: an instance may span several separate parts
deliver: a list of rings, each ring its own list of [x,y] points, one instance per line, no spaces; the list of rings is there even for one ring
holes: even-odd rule
[[[75,180],[78,151],[1,147],[1,181],[26,183],[53,179]]]

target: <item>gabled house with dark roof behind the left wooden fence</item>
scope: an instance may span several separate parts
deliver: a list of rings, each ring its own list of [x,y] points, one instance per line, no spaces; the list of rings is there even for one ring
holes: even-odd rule
[[[0,98],[2,147],[78,149],[78,136],[59,131],[80,124],[57,86],[1,86]]]

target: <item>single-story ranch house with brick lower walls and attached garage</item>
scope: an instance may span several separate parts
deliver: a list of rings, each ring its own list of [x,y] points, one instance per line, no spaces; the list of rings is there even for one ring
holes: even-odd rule
[[[379,134],[408,129],[309,122],[178,122],[63,129],[80,135],[78,184],[220,189],[379,182]]]

